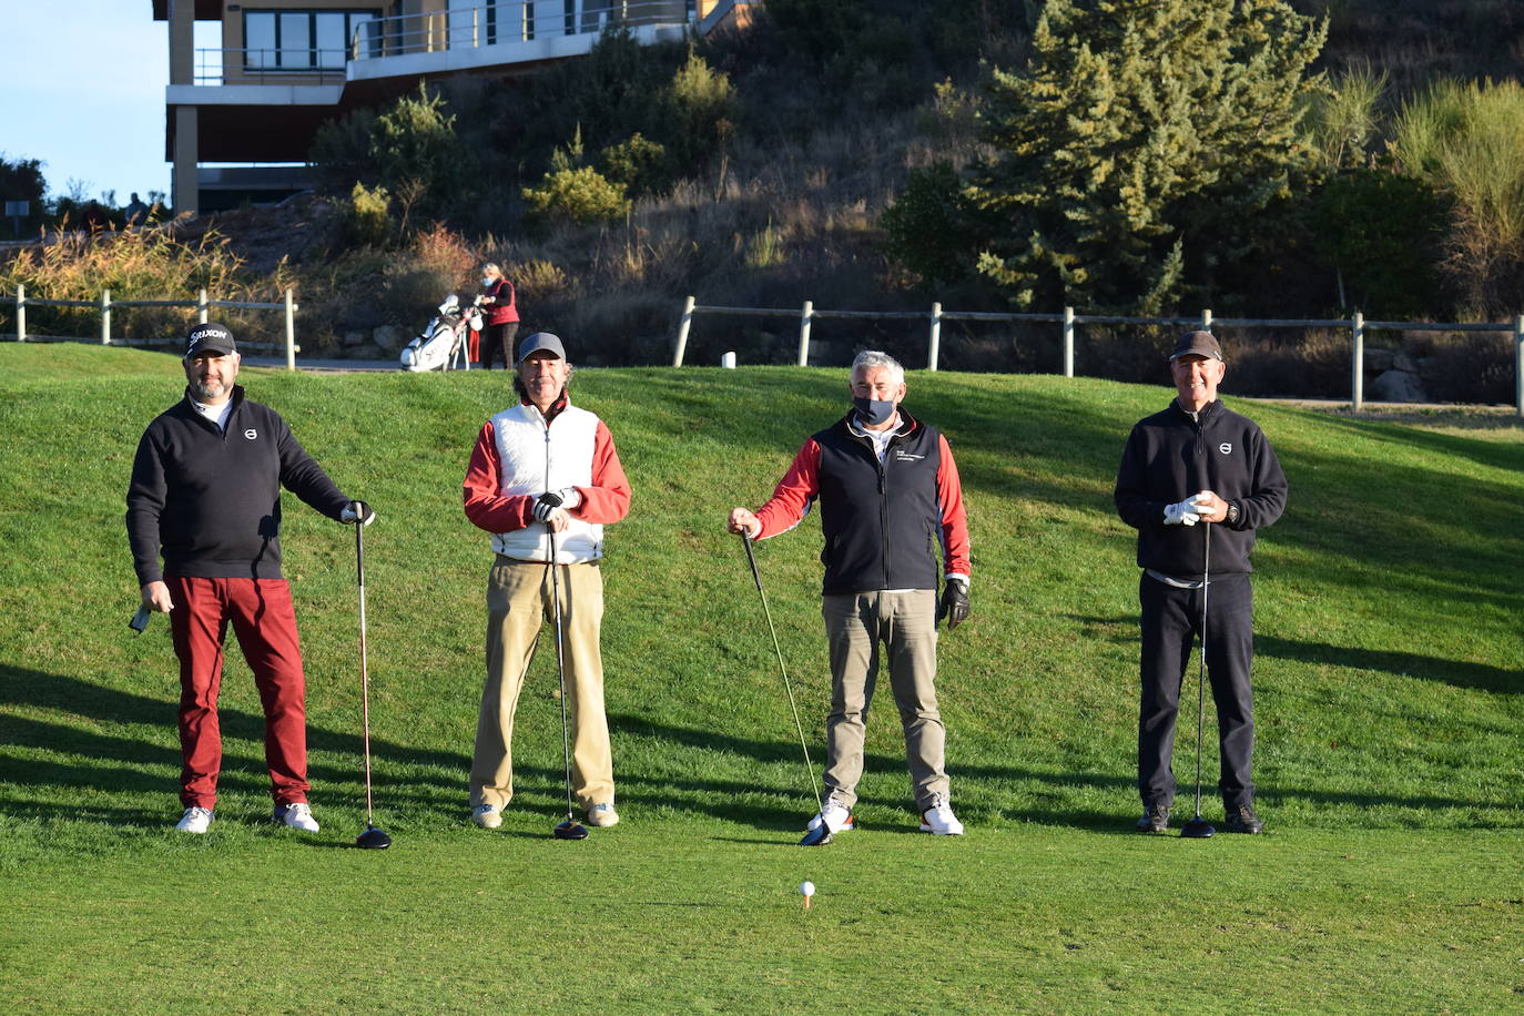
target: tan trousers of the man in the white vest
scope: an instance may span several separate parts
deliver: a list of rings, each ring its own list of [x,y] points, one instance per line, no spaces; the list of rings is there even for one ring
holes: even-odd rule
[[[582,807],[614,803],[614,762],[604,713],[604,576],[597,565],[556,565],[572,724],[572,791]],[[555,621],[544,562],[498,554],[486,583],[486,685],[471,759],[471,804],[506,807],[514,797],[514,713],[544,621]],[[550,634],[555,652],[555,632]],[[558,760],[559,762],[559,760]]]

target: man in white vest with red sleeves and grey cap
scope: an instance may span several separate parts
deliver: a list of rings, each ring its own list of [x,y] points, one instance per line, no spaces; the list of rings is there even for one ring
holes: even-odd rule
[[[604,420],[572,405],[572,366],[550,332],[518,347],[518,405],[486,422],[471,451],[465,512],[492,533],[486,586],[486,685],[471,760],[471,818],[503,824],[514,797],[514,711],[541,625],[553,615],[550,548],[559,571],[572,781],[591,826],[613,826],[614,763],[604,713],[604,526],[629,512],[629,484]],[[553,497],[546,497],[546,495]]]

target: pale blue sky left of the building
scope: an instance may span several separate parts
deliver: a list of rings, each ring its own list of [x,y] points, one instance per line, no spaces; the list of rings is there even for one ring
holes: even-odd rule
[[[149,0],[0,0],[0,152],[43,161],[50,195],[169,192],[169,37]],[[213,40],[216,26],[212,29]],[[198,27],[198,46],[204,41]]]

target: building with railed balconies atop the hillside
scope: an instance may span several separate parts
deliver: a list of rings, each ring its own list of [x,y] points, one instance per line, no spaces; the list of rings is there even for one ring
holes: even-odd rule
[[[754,0],[152,0],[169,29],[165,157],[175,212],[309,184],[317,129],[450,75],[529,73],[607,27],[643,43],[750,21]],[[215,21],[219,46],[197,49]]]

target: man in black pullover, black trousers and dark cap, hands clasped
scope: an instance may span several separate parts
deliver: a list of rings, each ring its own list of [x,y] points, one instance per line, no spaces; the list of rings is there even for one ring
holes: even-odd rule
[[[1180,337],[1169,358],[1177,398],[1140,420],[1128,437],[1114,498],[1122,521],[1138,530],[1141,684],[1138,707],[1137,829],[1169,829],[1175,775],[1169,759],[1180,711],[1180,685],[1190,643],[1201,631],[1207,596],[1207,672],[1218,707],[1222,774],[1218,789],[1227,832],[1257,833],[1254,813],[1254,594],[1248,556],[1254,530],[1286,507],[1286,477],[1263,431],[1218,402],[1227,372],[1212,332]],[[1198,524],[1201,527],[1198,529]],[[1205,576],[1205,526],[1212,526],[1212,570]]]

